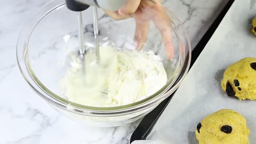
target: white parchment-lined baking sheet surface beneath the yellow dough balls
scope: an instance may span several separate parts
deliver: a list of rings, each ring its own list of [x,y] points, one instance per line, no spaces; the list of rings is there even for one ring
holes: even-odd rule
[[[221,89],[228,65],[245,57],[256,57],[256,36],[250,33],[253,17],[255,0],[234,2],[159,118],[149,140],[198,143],[195,129],[205,116],[220,109],[233,109],[247,119],[250,143],[256,143],[256,101],[227,97]]]

